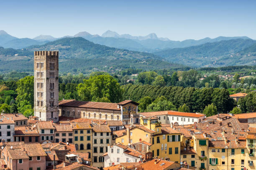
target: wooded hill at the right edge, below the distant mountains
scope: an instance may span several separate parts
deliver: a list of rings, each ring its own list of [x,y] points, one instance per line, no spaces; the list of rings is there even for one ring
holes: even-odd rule
[[[214,43],[204,43],[186,48],[165,49],[155,52],[157,56],[174,63],[187,66],[235,66],[255,65],[256,41],[252,39],[234,39]]]

